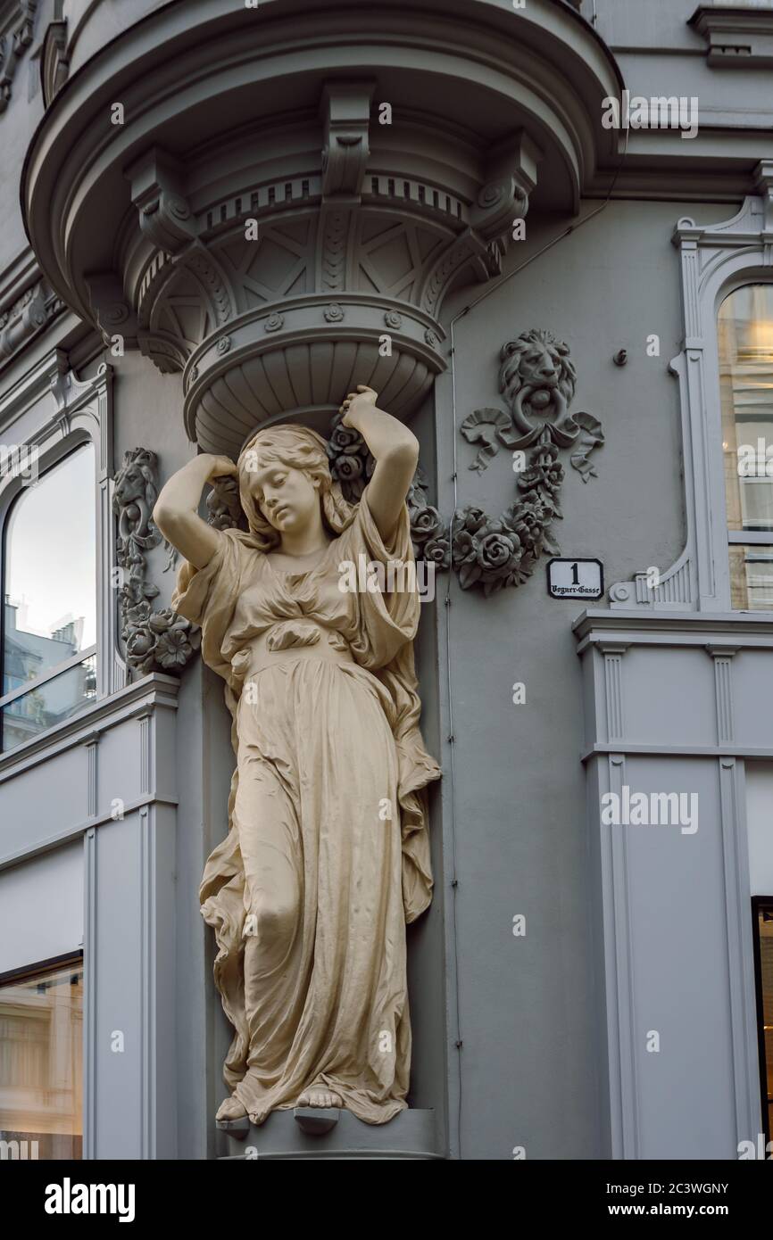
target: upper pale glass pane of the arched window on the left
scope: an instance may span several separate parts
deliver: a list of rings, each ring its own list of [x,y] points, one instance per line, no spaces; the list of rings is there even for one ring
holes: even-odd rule
[[[22,490],[6,526],[4,559],[2,694],[97,640],[91,444]]]

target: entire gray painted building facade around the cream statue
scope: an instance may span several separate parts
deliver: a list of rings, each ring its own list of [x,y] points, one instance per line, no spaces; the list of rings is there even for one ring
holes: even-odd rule
[[[548,598],[547,553],[489,598],[438,574],[417,646],[444,777],[436,897],[408,931],[412,1111],[326,1138],[283,1112],[247,1143],[732,1159],[763,1131],[773,613],[731,609],[716,317],[773,280],[772,30],[771,5],[694,0],[0,2],[0,33],[24,36],[0,95],[0,443],[37,444],[42,472],[92,440],[98,538],[94,701],[0,754],[0,975],[83,949],[84,1157],[244,1148],[213,1123],[230,1033],[197,906],[230,718],[197,656],[127,667],[124,454],[153,450],[163,482],[263,420],[324,430],[372,382],[444,518],[499,513],[511,453],[470,470],[459,427],[503,407],[500,348],[534,327],[566,342],[572,409],[603,427],[597,476],[563,458],[555,534],[602,560],[604,596]],[[696,136],[605,129],[623,89],[696,97]],[[19,486],[0,477],[4,528]],[[148,552],[161,605],[165,558]],[[697,831],[604,826],[624,785],[697,794]]]

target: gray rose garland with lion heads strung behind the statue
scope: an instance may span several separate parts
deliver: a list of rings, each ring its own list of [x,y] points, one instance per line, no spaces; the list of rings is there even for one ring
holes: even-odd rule
[[[476,505],[457,508],[450,520],[428,502],[427,475],[419,467],[408,491],[411,538],[417,560],[434,572],[449,568],[463,590],[478,587],[489,596],[527,582],[543,553],[560,554],[553,523],[563,515],[561,453],[583,482],[596,477],[592,453],[604,443],[602,424],[591,413],[570,413],[577,374],[567,345],[550,331],[531,329],[500,350],[499,389],[504,408],[473,410],[459,430],[478,445],[469,469],[483,474],[500,448],[512,454],[516,497],[498,517]],[[328,440],[330,472],[344,496],[356,503],[375,460],[362,436],[337,413]],[[122,637],[132,671],[181,671],[199,650],[195,625],[170,608],[154,610],[159,588],[146,580],[146,552],[163,541],[150,516],[158,495],[155,454],[135,448],[125,454],[115,479],[114,511],[119,520],[118,562]],[[233,479],[216,481],[207,497],[208,522],[217,529],[246,528]],[[165,572],[174,564],[174,553]]]

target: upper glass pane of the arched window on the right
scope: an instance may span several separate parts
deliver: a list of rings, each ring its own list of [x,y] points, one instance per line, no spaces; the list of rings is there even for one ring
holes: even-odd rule
[[[773,284],[731,293],[718,316],[730,529],[773,529]]]

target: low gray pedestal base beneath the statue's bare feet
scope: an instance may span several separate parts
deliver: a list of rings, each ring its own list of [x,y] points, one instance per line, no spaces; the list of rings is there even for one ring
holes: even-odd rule
[[[349,1111],[339,1111],[333,1127],[318,1135],[304,1132],[293,1111],[274,1111],[259,1128],[247,1120],[217,1127],[223,1137],[221,1158],[225,1159],[445,1157],[434,1111],[402,1111],[390,1123],[381,1125],[362,1123]]]

